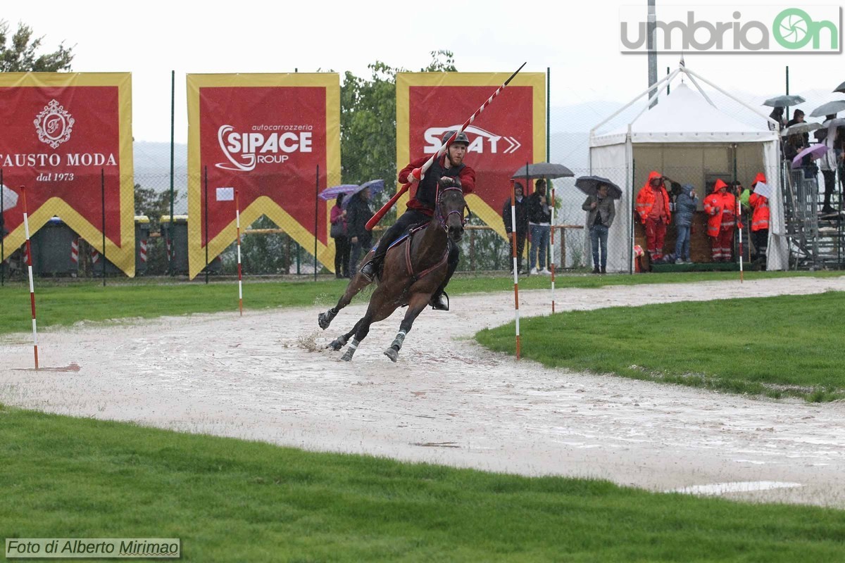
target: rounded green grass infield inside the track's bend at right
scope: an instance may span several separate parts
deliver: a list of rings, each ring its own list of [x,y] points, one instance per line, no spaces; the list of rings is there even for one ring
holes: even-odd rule
[[[729,392],[845,397],[845,294],[572,311],[521,322],[521,355],[551,367]],[[477,341],[515,354],[514,325]]]

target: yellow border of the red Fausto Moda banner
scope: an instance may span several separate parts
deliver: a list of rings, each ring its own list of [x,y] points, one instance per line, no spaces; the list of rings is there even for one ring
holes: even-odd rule
[[[131,73],[0,73],[3,88],[65,88],[68,86],[117,87],[117,111],[120,138],[120,240],[117,246],[106,236],[106,258],[128,277],[135,275],[135,177],[132,151],[132,74]],[[83,218],[62,198],[49,198],[29,215],[30,235],[46,225],[53,215],[88,241],[98,252],[103,252],[102,231]],[[18,248],[26,240],[23,223],[9,233],[5,245]]]

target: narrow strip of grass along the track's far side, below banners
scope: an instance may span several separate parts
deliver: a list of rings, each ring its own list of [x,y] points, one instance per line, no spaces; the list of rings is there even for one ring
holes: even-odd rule
[[[748,279],[793,275],[840,275],[840,273],[748,273]],[[559,288],[597,288],[607,284],[682,283],[702,280],[737,279],[736,273],[659,273],[649,275],[569,275],[559,276]],[[237,311],[237,283],[215,281],[208,285],[173,282],[167,279],[113,279],[104,288],[94,280],[35,281],[38,325],[41,328],[68,326],[81,320],[104,321],[131,317],[161,317],[188,313]],[[549,287],[546,276],[532,276],[520,281],[523,290]],[[258,281],[244,284],[244,307],[265,309],[285,306],[329,307],[335,304],[346,288],[346,280],[318,282]],[[511,290],[508,276],[456,276],[449,286],[450,295],[485,291]],[[31,330],[29,285],[17,280],[0,287],[0,334]]]

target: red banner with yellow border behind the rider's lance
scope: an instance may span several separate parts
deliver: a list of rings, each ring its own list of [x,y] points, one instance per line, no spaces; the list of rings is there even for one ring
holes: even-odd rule
[[[396,165],[433,154],[510,73],[398,73]],[[470,127],[464,162],[476,171],[472,212],[504,236],[501,212],[510,177],[526,162],[546,160],[545,74],[520,73]],[[400,211],[404,211],[401,208]]]

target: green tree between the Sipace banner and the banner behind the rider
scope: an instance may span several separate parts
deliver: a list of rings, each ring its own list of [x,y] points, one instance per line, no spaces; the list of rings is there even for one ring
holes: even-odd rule
[[[431,57],[420,72],[457,71],[451,51],[432,51]],[[341,176],[347,184],[384,178],[388,189],[375,202],[380,204],[390,195],[397,174],[396,73],[405,69],[380,61],[368,68],[371,78],[358,78],[347,71],[341,86]]]

